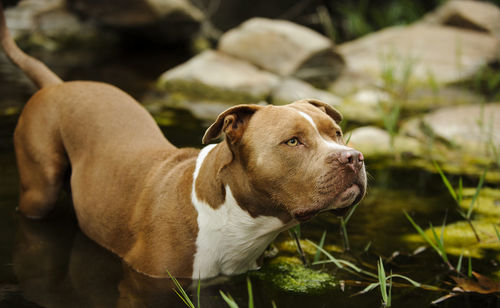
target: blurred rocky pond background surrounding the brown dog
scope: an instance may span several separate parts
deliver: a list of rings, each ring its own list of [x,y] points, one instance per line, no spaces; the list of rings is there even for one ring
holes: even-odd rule
[[[430,286],[395,284],[395,306],[500,305],[499,0],[2,3],[24,51],[64,80],[122,88],[178,146],[200,147],[216,116],[241,103],[316,98],[343,113],[345,141],[367,158],[368,195],[348,222],[321,215],[277,239],[250,274],[257,307],[388,306],[378,290],[353,296],[376,280],[326,262],[305,239]],[[49,221],[15,213],[12,134],[35,91],[0,53],[0,307],[183,307],[167,282],[81,234],[70,196]],[[326,265],[304,267],[297,241]],[[222,289],[244,307],[245,279],[203,282],[202,306],[225,306]]]

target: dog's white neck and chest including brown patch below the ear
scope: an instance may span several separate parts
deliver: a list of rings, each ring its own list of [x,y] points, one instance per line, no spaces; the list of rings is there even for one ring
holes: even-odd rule
[[[198,212],[199,232],[193,279],[219,273],[234,275],[258,268],[256,261],[269,243],[290,227],[275,216],[252,217],[238,204],[230,183],[219,178],[219,170],[227,163],[220,159],[221,151],[228,151],[224,147],[227,145],[223,143],[209,145],[200,151],[196,160],[191,200]],[[216,153],[217,157],[212,157],[211,154]],[[225,154],[222,157],[226,157]],[[200,176],[202,168],[210,171],[203,172],[203,177]],[[211,193],[215,196],[209,196]]]

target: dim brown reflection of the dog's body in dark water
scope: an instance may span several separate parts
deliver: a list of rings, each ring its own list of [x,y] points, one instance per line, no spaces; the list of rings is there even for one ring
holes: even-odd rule
[[[69,202],[65,202],[69,203]],[[70,204],[47,220],[16,215],[13,271],[26,300],[43,307],[185,307],[170,279],[144,276],[78,229]],[[191,280],[180,281],[187,290]],[[203,282],[209,285],[210,282]],[[218,288],[204,288],[203,307],[221,307]]]

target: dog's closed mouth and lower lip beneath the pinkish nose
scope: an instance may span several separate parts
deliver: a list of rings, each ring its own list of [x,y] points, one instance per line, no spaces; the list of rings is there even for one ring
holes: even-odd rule
[[[330,212],[337,217],[345,217],[350,209],[359,203],[364,196],[364,189],[358,184],[353,184],[345,191],[340,193],[334,200],[331,206],[326,208],[312,208],[308,210],[297,211],[294,213],[294,218],[299,222],[311,220],[314,216],[321,212]]]

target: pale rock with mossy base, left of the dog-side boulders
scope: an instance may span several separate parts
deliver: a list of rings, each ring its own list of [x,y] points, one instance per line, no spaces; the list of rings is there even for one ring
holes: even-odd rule
[[[236,103],[265,100],[279,77],[242,60],[207,50],[165,72],[158,88],[189,97]]]

